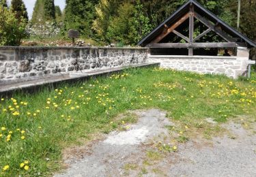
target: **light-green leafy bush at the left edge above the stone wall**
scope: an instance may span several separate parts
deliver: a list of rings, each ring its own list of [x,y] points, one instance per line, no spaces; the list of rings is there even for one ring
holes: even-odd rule
[[[27,19],[16,18],[12,7],[0,5],[0,46],[18,46],[21,39],[27,36]]]

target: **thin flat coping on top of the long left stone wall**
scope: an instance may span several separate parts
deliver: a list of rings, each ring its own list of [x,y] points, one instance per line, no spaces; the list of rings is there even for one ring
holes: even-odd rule
[[[148,48],[109,48],[109,47],[73,47],[73,46],[0,46],[0,50],[77,50],[77,49],[108,49],[108,50],[148,50]]]

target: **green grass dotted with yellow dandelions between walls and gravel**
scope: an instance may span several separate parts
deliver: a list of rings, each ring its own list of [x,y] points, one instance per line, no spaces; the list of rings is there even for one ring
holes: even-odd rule
[[[116,118],[127,110],[167,110],[168,118],[182,124],[178,141],[184,142],[186,129],[201,129],[205,118],[218,124],[237,116],[256,121],[255,102],[255,74],[232,80],[159,68],[15,93],[0,100],[0,176],[51,176],[61,168],[64,148],[132,121]],[[216,131],[205,125],[202,133],[210,138]]]

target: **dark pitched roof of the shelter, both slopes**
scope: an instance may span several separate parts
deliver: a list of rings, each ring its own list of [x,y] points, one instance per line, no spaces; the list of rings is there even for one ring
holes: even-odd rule
[[[225,22],[223,22],[223,20],[212,14],[212,12],[205,9],[205,7],[195,0],[189,0],[184,3],[184,5],[182,5],[182,7],[180,7],[176,12],[171,14],[169,18],[167,18],[164,22],[158,25],[158,27],[141,39],[138,46],[147,46],[148,44],[160,42],[160,40],[157,38],[159,38],[162,33],[167,31],[167,29],[179,35],[180,33],[177,33],[177,31],[174,30],[177,26],[175,26],[175,24],[184,22],[182,18],[187,19],[187,14],[191,12],[191,5],[193,5],[193,12],[195,11],[195,17],[203,22],[204,25],[209,27],[208,31],[205,31],[205,33],[201,35],[205,35],[209,31],[214,31],[217,35],[223,37],[223,39],[225,39],[227,42],[232,42],[237,46],[246,46],[248,48],[256,47],[255,42],[236,29],[233,29],[233,27],[227,25]],[[166,35],[163,36],[165,37]],[[186,39],[185,36],[183,36],[183,38]]]

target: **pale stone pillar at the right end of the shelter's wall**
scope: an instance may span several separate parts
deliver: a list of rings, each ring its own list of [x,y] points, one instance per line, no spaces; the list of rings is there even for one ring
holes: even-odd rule
[[[249,60],[250,50],[246,47],[238,47],[236,54],[236,61],[240,63],[240,69],[236,70],[235,78],[238,76],[246,76],[248,69],[248,60]]]

